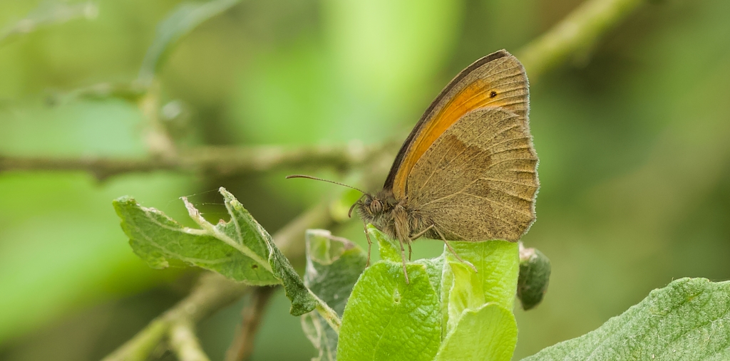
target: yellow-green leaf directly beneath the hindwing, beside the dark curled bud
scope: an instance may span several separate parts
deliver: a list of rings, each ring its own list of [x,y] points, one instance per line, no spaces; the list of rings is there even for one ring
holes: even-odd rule
[[[475,271],[446,253],[442,276],[442,326],[449,333],[458,323],[462,312],[496,303],[508,310],[514,307],[519,275],[518,244],[507,241],[450,241],[459,257],[472,263]]]

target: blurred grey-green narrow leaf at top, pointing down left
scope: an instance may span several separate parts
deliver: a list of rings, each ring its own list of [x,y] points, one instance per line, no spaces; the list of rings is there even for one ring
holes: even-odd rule
[[[230,9],[240,0],[213,0],[207,2],[183,2],[178,4],[165,20],[162,20],[155,34],[155,39],[147,48],[142,68],[139,69],[139,81],[149,84],[162,63],[166,60],[174,44],[194,28],[213,18],[215,15]]]

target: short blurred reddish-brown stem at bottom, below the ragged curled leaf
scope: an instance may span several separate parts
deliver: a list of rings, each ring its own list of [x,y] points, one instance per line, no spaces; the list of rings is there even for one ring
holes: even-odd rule
[[[226,352],[226,361],[245,361],[251,356],[253,340],[274,290],[274,287],[256,287],[253,291],[250,303],[241,311],[241,327]]]

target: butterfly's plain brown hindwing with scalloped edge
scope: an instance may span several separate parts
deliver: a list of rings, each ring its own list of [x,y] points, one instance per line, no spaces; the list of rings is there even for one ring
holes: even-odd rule
[[[412,167],[407,202],[447,239],[516,241],[534,222],[537,155],[524,117],[477,109]]]

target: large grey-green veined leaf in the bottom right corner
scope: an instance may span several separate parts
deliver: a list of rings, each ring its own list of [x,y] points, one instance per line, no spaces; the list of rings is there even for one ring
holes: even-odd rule
[[[730,282],[678,279],[597,330],[523,361],[730,360]]]

